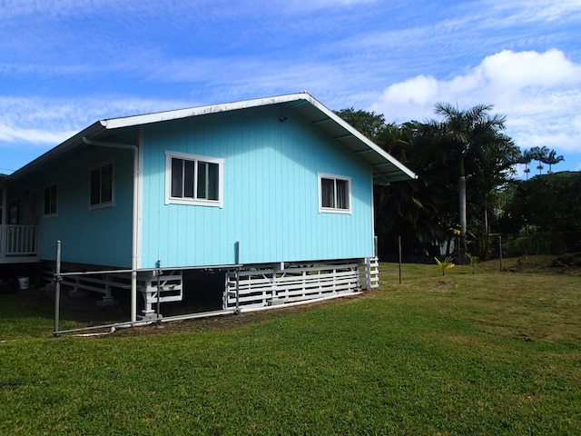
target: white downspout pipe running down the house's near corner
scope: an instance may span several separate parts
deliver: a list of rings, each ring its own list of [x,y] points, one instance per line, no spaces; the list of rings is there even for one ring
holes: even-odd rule
[[[137,233],[139,231],[139,147],[133,144],[106,143],[94,141],[83,136],[84,144],[102,147],[121,148],[133,151],[133,219],[132,219],[132,253],[131,253],[131,322],[137,322]]]

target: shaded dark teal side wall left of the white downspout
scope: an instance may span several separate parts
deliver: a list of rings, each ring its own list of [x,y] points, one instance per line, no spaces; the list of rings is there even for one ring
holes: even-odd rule
[[[90,171],[113,162],[114,207],[90,210]],[[86,147],[74,159],[54,165],[38,180],[39,258],[54,260],[62,242],[62,260],[117,267],[131,266],[133,154],[127,150]],[[44,187],[58,186],[58,213],[44,218]]]

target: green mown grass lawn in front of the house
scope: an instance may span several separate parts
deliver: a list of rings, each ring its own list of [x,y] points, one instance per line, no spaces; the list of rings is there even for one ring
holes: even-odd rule
[[[581,279],[536,263],[99,338],[2,294],[0,434],[581,434]]]

